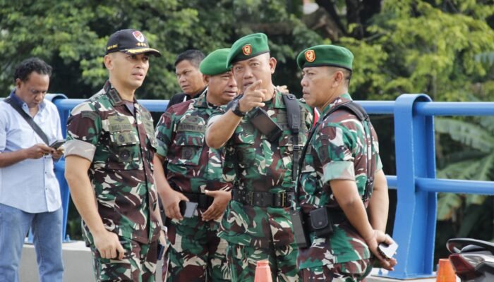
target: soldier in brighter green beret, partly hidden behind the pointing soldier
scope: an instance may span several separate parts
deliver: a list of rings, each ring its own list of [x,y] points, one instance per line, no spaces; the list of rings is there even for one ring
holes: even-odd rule
[[[207,147],[204,140],[207,119],[237,94],[234,77],[226,67],[228,53],[229,49],[213,51],[200,63],[208,82],[205,92],[171,106],[156,128],[159,161],[155,178],[171,219],[167,223],[171,243],[167,281],[231,281],[227,242],[217,236],[219,220],[231,199],[231,184],[222,178],[222,150]],[[162,172],[165,159],[167,178]],[[192,217],[180,214],[181,200],[198,202]]]

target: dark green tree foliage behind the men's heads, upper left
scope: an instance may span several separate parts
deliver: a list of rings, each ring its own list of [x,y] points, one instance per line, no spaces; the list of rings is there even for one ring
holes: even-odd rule
[[[294,58],[294,47],[315,44],[319,37],[294,16],[300,7],[293,6],[294,13],[289,13],[285,4],[275,0],[2,0],[0,86],[8,89],[13,85],[11,75],[17,63],[28,56],[40,56],[54,66],[52,92],[89,97],[107,79],[103,54],[109,35],[135,28],[163,54],[162,58],[152,58],[150,73],[138,94],[141,98],[167,99],[179,91],[174,60],[186,49],[207,53],[229,47],[237,37],[269,32],[273,25],[283,28],[271,42],[273,54],[282,63]],[[293,76],[294,71],[287,73]],[[290,81],[286,77],[283,80]]]

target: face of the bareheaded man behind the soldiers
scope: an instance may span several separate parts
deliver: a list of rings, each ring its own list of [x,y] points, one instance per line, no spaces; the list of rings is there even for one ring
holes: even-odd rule
[[[176,80],[183,93],[195,95],[203,90],[206,86],[203,80],[203,74],[200,73],[197,66],[194,66],[191,61],[183,60],[175,66]]]

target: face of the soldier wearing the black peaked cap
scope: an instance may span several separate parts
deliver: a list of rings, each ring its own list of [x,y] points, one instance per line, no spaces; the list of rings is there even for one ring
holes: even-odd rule
[[[112,76],[112,83],[122,85],[130,90],[136,90],[143,85],[149,69],[148,54],[125,54],[114,52],[109,55],[110,63],[107,68]]]

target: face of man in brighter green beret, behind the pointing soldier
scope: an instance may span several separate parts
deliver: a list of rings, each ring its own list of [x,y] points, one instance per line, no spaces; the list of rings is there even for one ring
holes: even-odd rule
[[[215,105],[224,105],[236,97],[238,89],[231,71],[220,75],[209,76],[208,80],[208,102]]]

